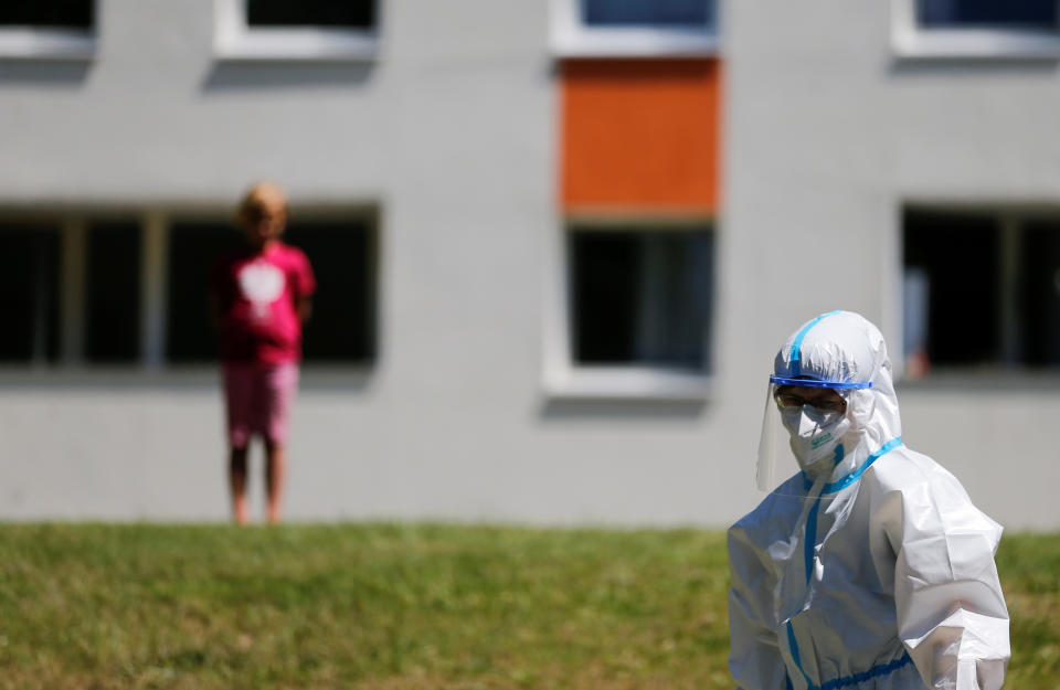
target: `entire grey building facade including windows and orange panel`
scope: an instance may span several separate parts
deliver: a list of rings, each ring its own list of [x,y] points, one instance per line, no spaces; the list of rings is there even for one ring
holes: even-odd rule
[[[907,443],[1060,526],[1054,3],[289,4],[0,10],[0,517],[226,518],[205,276],[268,178],[292,519],[723,526],[844,308]]]

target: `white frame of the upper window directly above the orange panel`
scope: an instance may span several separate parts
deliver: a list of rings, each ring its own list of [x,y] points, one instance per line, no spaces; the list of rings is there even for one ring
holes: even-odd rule
[[[558,57],[710,56],[719,51],[717,15],[711,26],[586,26],[581,1],[551,0],[552,51]]]

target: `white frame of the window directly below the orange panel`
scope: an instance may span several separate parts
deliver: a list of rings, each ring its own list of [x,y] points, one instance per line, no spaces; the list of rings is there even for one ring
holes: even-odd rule
[[[647,365],[584,365],[571,352],[570,315],[570,234],[572,229],[608,231],[616,227],[650,224],[657,232],[687,232],[712,225],[717,242],[717,219],[708,216],[657,216],[577,214],[559,221],[551,255],[555,257],[545,275],[544,372],[547,397],[556,400],[615,400],[701,403],[712,390],[713,375]],[[716,253],[717,267],[717,253]],[[717,273],[714,274],[717,277]],[[717,279],[716,279],[717,284]],[[712,295],[712,321],[717,322],[717,289]],[[713,331],[711,338],[717,340]],[[716,351],[714,348],[711,348]],[[713,369],[712,362],[708,367]]]

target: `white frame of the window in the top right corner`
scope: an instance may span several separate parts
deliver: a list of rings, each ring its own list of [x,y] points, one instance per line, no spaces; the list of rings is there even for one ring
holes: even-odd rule
[[[1060,26],[1056,31],[923,29],[916,22],[916,0],[891,0],[891,39],[899,57],[1060,59]]]

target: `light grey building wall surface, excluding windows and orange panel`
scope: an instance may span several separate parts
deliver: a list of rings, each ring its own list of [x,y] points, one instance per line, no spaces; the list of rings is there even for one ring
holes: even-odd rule
[[[100,0],[92,63],[0,62],[0,205],[227,206],[261,177],[295,203],[379,204],[379,355],[305,373],[292,519],[725,524],[757,499],[765,376],[787,333],[855,309],[898,350],[903,201],[1060,189],[1051,68],[898,61],[886,3],[727,2],[711,394],[550,397],[547,3],[382,4],[367,64],[219,62],[211,0]],[[899,395],[909,444],[995,518],[1060,526],[1048,385]],[[0,445],[3,518],[227,517],[210,371],[3,372]]]

